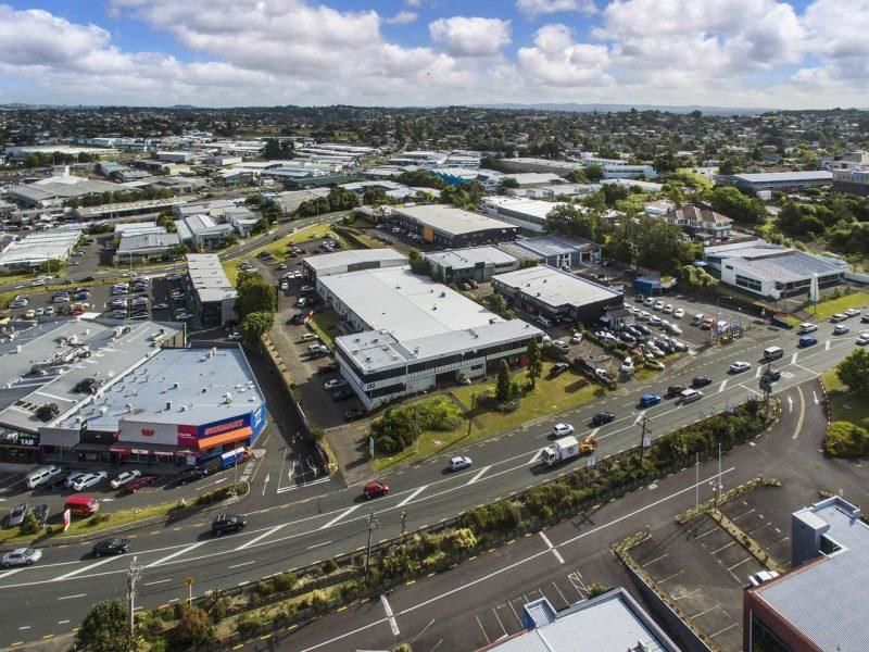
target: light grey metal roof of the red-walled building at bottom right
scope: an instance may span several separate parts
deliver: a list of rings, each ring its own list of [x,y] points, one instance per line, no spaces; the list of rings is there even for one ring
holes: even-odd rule
[[[869,602],[869,526],[859,510],[832,498],[794,514],[839,544],[774,580],[752,589],[821,650],[866,648]],[[829,526],[829,527],[827,527]]]

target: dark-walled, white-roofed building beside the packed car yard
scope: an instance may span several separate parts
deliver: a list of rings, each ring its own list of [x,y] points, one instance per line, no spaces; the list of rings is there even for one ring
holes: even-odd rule
[[[621,292],[549,265],[493,276],[492,289],[527,312],[585,325],[622,311],[625,303]]]

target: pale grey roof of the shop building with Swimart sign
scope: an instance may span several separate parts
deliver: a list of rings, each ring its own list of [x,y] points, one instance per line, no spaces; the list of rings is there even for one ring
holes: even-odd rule
[[[74,427],[76,417],[99,431],[116,431],[124,418],[193,426],[247,414],[264,401],[240,348],[162,349],[59,427]]]

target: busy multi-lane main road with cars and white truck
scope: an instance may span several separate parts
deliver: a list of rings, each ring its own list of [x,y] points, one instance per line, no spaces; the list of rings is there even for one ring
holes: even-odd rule
[[[390,484],[391,492],[370,503],[361,498],[358,486],[336,489],[329,484],[277,493],[281,482],[272,478],[272,485],[263,485],[264,477],[260,475],[253,494],[273,493],[274,500],[260,499],[255,505],[239,505],[242,512],[247,512],[245,504],[252,511],[245,513],[247,529],[238,535],[213,538],[207,531],[210,517],[202,515],[172,526],[135,531],[130,555],[91,559],[89,544],[47,549],[42,561],[35,566],[0,570],[0,645],[67,634],[91,604],[122,597],[133,554],[144,565],[138,604],[152,607],[186,597],[188,577],[193,578],[194,594],[201,594],[357,549],[366,539],[365,518],[369,509],[377,511],[381,524],[377,538],[386,539],[400,532],[402,514],[407,529],[413,530],[491,502],[584,463],[577,461],[552,469],[540,463],[539,451],[546,444],[554,421],[572,423],[579,432],[592,431],[588,426],[591,416],[609,410],[616,414],[616,421],[596,429],[597,455],[624,450],[639,442],[644,416],[646,430],[654,438],[719,412],[727,403],[759,396],[763,365],[758,361],[763,349],[771,344],[785,351],[774,365],[782,372],[774,391],[783,410],[794,410],[795,402],[797,406],[803,402],[817,403],[820,400],[817,391],[802,396],[796,386],[817,377],[854,350],[856,333],[833,336],[832,326],[822,324],[816,335],[818,343],[801,350],[793,333],[769,329],[761,337],[755,335],[751,340],[687,356],[673,365],[680,368],[671,368],[632,391],[613,392],[602,401],[554,415],[552,422],[520,427],[466,447],[464,453],[474,459],[474,465],[464,472],[444,471],[449,456],[462,450],[456,449],[386,474],[382,479]],[[728,367],[734,360],[750,361],[753,367],[730,375]],[[688,385],[697,375],[713,378],[701,401],[689,405],[665,401],[647,410],[638,409],[641,393],[664,393],[668,385]],[[328,487],[326,493],[324,487]]]

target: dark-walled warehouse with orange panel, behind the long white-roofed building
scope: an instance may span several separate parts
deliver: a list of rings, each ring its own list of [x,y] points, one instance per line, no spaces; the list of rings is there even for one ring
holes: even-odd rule
[[[387,218],[426,242],[459,248],[513,240],[518,227],[443,204],[393,208]]]

